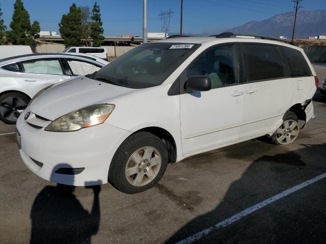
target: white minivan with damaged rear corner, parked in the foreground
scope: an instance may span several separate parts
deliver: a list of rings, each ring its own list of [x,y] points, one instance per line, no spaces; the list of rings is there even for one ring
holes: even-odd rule
[[[267,136],[293,142],[318,79],[301,48],[266,38],[170,37],[44,88],[19,116],[25,165],[73,186],[133,194],[168,163]]]

